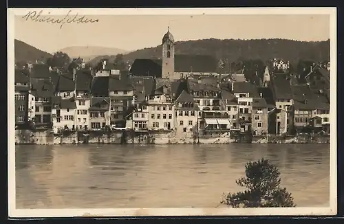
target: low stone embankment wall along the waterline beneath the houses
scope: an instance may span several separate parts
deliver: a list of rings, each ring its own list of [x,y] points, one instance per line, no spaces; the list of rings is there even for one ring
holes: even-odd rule
[[[213,137],[202,135],[175,135],[173,132],[155,131],[154,133],[130,133],[122,131],[65,132],[58,135],[52,131],[16,130],[15,144],[329,144],[329,136],[273,137],[252,136],[233,137],[228,133]]]

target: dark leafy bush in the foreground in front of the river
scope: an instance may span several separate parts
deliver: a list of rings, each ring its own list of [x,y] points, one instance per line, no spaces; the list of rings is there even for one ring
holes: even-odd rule
[[[244,192],[228,193],[221,203],[233,208],[295,207],[292,195],[281,188],[280,172],[268,159],[249,161],[245,166],[246,177],[235,182],[246,188]]]

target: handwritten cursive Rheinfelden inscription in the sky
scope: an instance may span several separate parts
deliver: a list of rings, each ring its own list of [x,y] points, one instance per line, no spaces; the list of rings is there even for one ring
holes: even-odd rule
[[[23,19],[26,21],[31,20],[39,23],[52,23],[52,24],[58,24],[60,25],[60,29],[65,25],[66,23],[98,23],[98,19],[88,19],[86,16],[79,16],[78,13],[71,14],[72,10],[69,10],[69,12],[63,17],[63,19],[56,19],[52,18],[52,16],[49,15],[42,15],[43,10],[36,12],[36,11],[30,11],[25,16],[23,16]],[[47,14],[50,14],[48,12]]]

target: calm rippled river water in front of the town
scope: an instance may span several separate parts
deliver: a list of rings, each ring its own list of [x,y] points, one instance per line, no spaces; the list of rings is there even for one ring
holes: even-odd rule
[[[17,208],[215,208],[270,159],[297,206],[329,206],[329,144],[16,146]]]

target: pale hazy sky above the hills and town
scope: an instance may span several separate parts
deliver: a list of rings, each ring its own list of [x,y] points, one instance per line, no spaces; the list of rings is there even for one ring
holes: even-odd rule
[[[55,18],[55,17],[54,17]],[[61,16],[56,18],[62,18]],[[15,17],[15,38],[45,52],[70,46],[155,47],[170,26],[175,41],[203,38],[287,38],[324,41],[330,38],[330,15],[102,15],[87,16],[98,23],[57,24]]]

